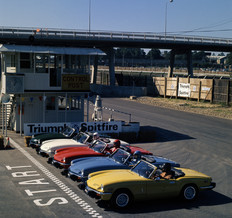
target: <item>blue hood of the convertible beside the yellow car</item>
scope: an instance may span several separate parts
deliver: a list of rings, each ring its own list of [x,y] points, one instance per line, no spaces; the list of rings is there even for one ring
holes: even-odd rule
[[[81,174],[81,172],[83,172],[85,176],[100,170],[129,169],[128,165],[118,163],[109,157],[80,158],[73,162],[74,163],[69,167],[69,171],[75,174]]]

